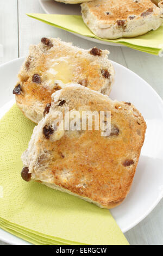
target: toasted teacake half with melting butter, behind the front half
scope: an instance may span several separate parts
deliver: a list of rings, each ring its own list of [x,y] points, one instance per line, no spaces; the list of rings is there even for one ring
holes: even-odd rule
[[[41,120],[46,104],[51,102],[51,95],[65,87],[65,83],[81,83],[109,95],[114,81],[108,51],[100,50],[98,55],[93,55],[91,49],[84,50],[60,39],[49,40],[51,47],[43,43],[30,46],[29,56],[22,65],[15,86],[20,84],[22,90],[16,95],[18,107],[35,123]],[[109,72],[108,77],[102,74],[105,69]],[[33,82],[34,74],[40,76],[40,81]],[[60,86],[58,81],[62,81]]]

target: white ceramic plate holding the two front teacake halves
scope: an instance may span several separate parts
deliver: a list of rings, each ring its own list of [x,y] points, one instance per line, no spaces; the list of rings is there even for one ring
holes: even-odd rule
[[[15,101],[12,89],[23,60],[15,59],[0,66],[0,118]],[[113,65],[116,76],[111,99],[134,103],[147,123],[146,139],[130,193],[120,206],[111,210],[124,233],[142,221],[163,197],[163,102],[152,87],[134,72],[115,62]],[[2,229],[0,240],[14,245],[29,244]]]

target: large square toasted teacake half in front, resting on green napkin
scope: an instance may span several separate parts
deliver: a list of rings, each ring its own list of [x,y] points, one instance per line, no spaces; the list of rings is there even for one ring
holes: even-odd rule
[[[59,90],[52,99],[49,113],[35,127],[22,155],[24,166],[34,180],[102,208],[114,208],[130,190],[145,139],[145,120],[131,103],[112,101],[77,84]],[[59,131],[55,127],[46,138],[43,127],[53,127],[57,111],[64,113],[67,108],[111,111],[111,127],[117,130],[103,137],[100,130]]]

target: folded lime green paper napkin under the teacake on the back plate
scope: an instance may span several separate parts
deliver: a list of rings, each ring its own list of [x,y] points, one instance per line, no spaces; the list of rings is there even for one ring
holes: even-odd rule
[[[119,38],[114,40],[101,39],[94,35],[83,22],[79,15],[58,15],[58,14],[27,14],[29,17],[43,21],[54,27],[65,29],[66,31],[89,36],[102,41],[116,42],[128,46],[135,50],[151,53],[154,55],[163,55],[163,24],[156,31],[148,32],[135,38]]]

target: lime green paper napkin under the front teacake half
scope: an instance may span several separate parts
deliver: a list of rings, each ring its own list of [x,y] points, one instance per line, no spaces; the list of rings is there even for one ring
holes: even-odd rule
[[[128,245],[109,210],[22,180],[34,126],[16,105],[0,121],[0,227],[35,245]]]

